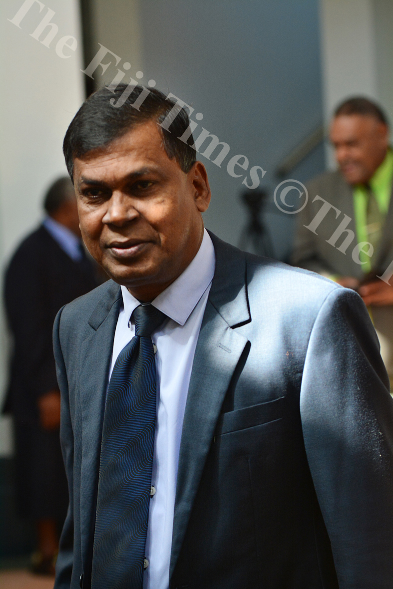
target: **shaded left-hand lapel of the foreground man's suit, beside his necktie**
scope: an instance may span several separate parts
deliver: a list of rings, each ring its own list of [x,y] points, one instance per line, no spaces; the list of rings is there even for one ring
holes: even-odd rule
[[[91,335],[84,340],[80,356],[82,411],[81,550],[86,562],[90,550],[91,522],[95,521],[95,492],[99,469],[101,427],[113,339],[121,305],[121,290],[111,281],[88,323]]]

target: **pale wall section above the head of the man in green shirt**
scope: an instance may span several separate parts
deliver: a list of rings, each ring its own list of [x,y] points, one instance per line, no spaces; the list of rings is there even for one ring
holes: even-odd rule
[[[380,102],[393,123],[393,1],[321,0],[321,39],[326,127],[353,95]]]

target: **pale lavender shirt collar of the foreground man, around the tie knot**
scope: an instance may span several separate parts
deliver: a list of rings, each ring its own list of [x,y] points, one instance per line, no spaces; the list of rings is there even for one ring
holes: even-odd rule
[[[209,233],[204,229],[203,240],[194,259],[151,304],[179,325],[184,325],[200,297],[212,282],[215,266],[214,246]],[[127,317],[131,317],[133,310],[140,305],[140,302],[126,286],[121,286],[121,294],[124,312]]]

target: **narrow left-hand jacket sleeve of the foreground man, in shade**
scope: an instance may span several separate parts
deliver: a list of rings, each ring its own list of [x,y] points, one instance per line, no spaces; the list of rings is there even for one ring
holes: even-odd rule
[[[74,433],[72,430],[70,402],[68,398],[68,379],[60,343],[60,318],[64,307],[60,309],[53,328],[53,346],[56,360],[57,378],[61,391],[61,425],[60,442],[68,481],[67,517],[60,538],[59,554],[56,562],[56,580],[54,589],[70,589],[72,564],[74,557]]]

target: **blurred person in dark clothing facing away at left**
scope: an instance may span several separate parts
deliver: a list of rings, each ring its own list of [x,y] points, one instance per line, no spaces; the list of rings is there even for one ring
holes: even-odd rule
[[[4,413],[14,416],[19,510],[37,524],[33,569],[51,574],[68,504],[52,326],[58,310],[98,280],[82,246],[70,178],[52,184],[44,209],[47,216],[19,245],[5,275],[14,349]]]

